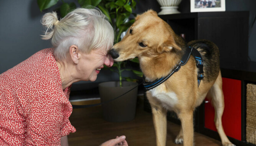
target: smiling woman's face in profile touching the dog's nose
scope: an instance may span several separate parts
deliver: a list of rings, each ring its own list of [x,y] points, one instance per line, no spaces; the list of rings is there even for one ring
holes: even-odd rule
[[[111,67],[114,63],[107,49],[93,49],[89,54],[82,53],[78,72],[82,80],[95,81],[104,64]]]

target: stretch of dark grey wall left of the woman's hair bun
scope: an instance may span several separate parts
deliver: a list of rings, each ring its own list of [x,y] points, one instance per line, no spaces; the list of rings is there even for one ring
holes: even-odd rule
[[[40,39],[42,13],[36,0],[2,0],[0,5],[0,73],[48,48]]]

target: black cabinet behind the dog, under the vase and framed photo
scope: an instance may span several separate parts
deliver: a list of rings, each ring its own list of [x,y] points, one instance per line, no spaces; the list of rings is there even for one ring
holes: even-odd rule
[[[186,41],[208,39],[220,49],[221,67],[248,60],[248,11],[198,12],[159,15]]]

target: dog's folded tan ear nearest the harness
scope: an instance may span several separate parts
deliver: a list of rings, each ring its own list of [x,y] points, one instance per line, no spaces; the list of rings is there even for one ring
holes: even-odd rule
[[[159,53],[168,52],[168,51],[171,51],[172,49],[177,49],[181,51],[181,48],[175,43],[174,40],[173,41],[167,40],[157,48],[157,52]]]

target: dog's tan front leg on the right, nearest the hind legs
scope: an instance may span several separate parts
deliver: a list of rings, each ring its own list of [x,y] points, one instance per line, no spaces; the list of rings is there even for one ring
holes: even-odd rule
[[[178,116],[182,124],[183,146],[193,146],[193,110],[181,111]]]

